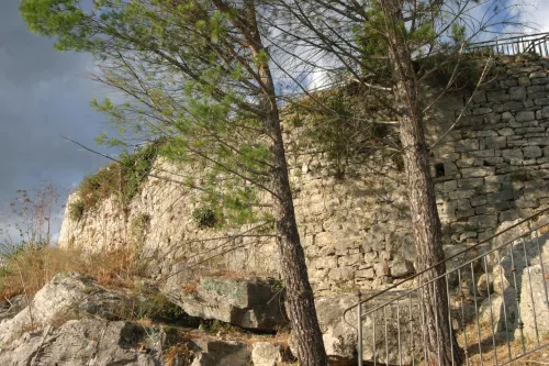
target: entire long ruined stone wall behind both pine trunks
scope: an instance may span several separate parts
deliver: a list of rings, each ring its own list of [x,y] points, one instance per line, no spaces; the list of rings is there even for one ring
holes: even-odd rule
[[[433,148],[445,244],[477,242],[502,222],[549,202],[548,68],[546,59],[498,60],[490,74],[492,81],[474,95],[464,117]],[[426,100],[436,96],[436,90],[425,91]],[[425,120],[429,142],[442,136],[462,111],[462,95],[446,96],[429,110]],[[373,154],[360,164],[350,163],[346,175],[337,178],[334,163],[317,146],[307,145],[303,129],[287,127],[284,140],[315,292],[378,289],[412,274],[414,245],[397,163]],[[193,174],[160,162],[154,173],[176,181]],[[127,211],[107,200],[79,222],[67,214],[59,243],[91,251],[134,245],[159,274],[189,263],[278,274],[273,239],[237,237],[250,229],[239,228],[228,233],[234,237],[212,240],[227,233],[199,229],[191,219],[197,207],[187,188],[149,177]],[[143,217],[148,218],[146,225],[137,225]]]

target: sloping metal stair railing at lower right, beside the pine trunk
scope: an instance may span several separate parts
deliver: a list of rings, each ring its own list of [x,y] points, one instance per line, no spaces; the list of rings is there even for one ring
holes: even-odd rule
[[[422,299],[426,291],[437,293],[440,284],[450,307],[444,319],[436,319],[437,329],[438,322],[449,324],[464,353],[463,365],[506,365],[549,345],[549,268],[544,266],[544,260],[549,265],[549,222],[539,223],[547,212],[366,300],[359,293],[357,303],[344,312],[347,324],[358,325],[358,365],[439,365],[439,357],[428,358]],[[441,264],[447,266],[444,275],[421,284],[422,275]],[[396,290],[412,280],[421,285]]]

